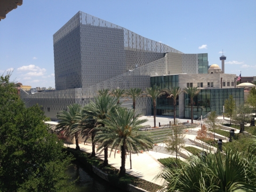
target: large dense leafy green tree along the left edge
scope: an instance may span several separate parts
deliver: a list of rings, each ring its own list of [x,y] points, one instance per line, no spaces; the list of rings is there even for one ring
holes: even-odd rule
[[[71,191],[71,157],[47,131],[38,106],[26,108],[10,74],[0,78],[0,191]]]

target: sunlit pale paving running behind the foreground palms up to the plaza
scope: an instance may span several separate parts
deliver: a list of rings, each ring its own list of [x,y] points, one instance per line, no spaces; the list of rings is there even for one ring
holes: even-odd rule
[[[146,122],[143,125],[151,125],[154,126],[154,118],[153,116],[142,116],[140,119],[148,119],[149,121]],[[223,118],[223,117],[222,117]],[[180,119],[177,118],[179,122],[187,122],[191,121],[189,119]],[[170,116],[157,116],[156,117],[156,122],[161,122],[161,124],[167,124],[170,121],[173,121],[173,118]],[[199,121],[194,121],[194,123],[199,123]],[[158,123],[157,123],[158,124]],[[198,131],[198,129],[201,129],[201,125],[197,128],[191,128],[189,130],[195,130]],[[185,135],[185,138],[189,138],[194,140],[196,137],[196,134],[189,134],[189,132]],[[79,144],[80,149],[83,151],[86,151],[87,153],[92,152],[92,146],[91,145],[83,145]],[[191,146],[191,145],[186,145],[186,146]],[[75,145],[70,145],[71,148],[75,148]],[[195,147],[195,146],[193,146]],[[198,148],[198,147],[196,147]],[[109,150],[110,153],[110,150]],[[102,153],[99,155],[99,153],[96,154],[96,156],[100,157],[101,159],[104,159],[104,154]],[[146,151],[143,154],[132,154],[132,169],[130,169],[130,155],[127,155],[126,158],[126,173],[129,173],[131,175],[134,175],[136,177],[139,177],[141,179],[154,182],[158,185],[162,185],[163,180],[154,180],[156,175],[161,172],[164,168],[164,166],[157,161],[159,158],[167,158],[167,157],[175,157],[174,155],[169,155],[169,154],[164,154],[164,153],[159,153],[156,151]],[[182,157],[179,157],[182,161]],[[116,169],[120,169],[121,166],[121,154],[116,154],[116,157],[114,157],[114,153],[111,154],[111,156],[108,158],[108,163]]]

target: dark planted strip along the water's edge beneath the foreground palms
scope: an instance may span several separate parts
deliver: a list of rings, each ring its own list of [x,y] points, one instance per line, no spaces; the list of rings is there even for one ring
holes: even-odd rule
[[[126,185],[132,184],[135,187],[145,189],[150,192],[155,192],[159,190],[161,186],[156,185],[155,183],[134,177],[133,175],[125,174],[124,177],[119,177],[119,170],[111,165],[103,166],[103,160],[99,157],[90,157],[91,154],[84,151],[77,151],[72,148],[63,148],[63,151],[67,151],[68,154],[73,154],[76,158],[76,161],[81,163],[84,168],[93,173],[92,165],[98,167],[101,171],[108,174],[109,183],[113,186],[125,189]]]

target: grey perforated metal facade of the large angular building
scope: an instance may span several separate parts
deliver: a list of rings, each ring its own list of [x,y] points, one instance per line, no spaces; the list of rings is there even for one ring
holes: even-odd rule
[[[183,54],[113,23],[79,11],[53,35],[56,91],[27,94],[27,106],[42,106],[51,118],[71,103],[84,106],[101,89],[150,87],[150,76],[198,73],[198,54]],[[124,107],[132,107],[125,101]],[[137,100],[151,114],[151,100]]]

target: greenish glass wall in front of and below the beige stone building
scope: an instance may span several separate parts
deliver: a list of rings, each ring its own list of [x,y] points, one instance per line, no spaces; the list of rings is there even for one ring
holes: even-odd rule
[[[222,115],[223,105],[229,95],[233,95],[236,106],[244,103],[244,89],[241,88],[201,90],[193,99],[193,118],[198,119],[201,115],[204,116],[210,111],[216,111],[218,115]],[[191,118],[190,97],[188,94],[185,94],[185,118]]]

